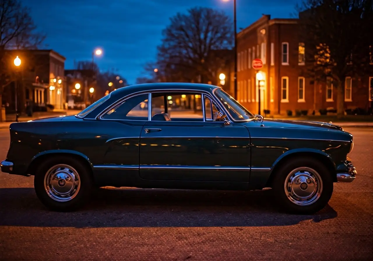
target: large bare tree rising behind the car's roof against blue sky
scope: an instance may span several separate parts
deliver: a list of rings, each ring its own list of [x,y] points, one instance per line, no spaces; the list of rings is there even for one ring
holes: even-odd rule
[[[208,82],[223,60],[216,50],[232,47],[233,23],[224,12],[194,7],[170,18],[154,67],[158,81]],[[153,69],[154,69],[153,67]]]

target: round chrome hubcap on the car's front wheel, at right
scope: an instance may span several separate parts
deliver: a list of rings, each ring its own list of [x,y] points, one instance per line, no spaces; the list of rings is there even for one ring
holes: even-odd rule
[[[291,202],[307,206],[319,199],[323,184],[316,170],[300,167],[288,174],[284,189],[286,196]]]

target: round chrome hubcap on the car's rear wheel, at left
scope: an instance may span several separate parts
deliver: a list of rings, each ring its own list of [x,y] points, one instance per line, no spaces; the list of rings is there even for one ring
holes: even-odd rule
[[[70,201],[79,192],[79,174],[69,165],[55,165],[47,171],[44,177],[44,188],[48,196],[55,201]]]

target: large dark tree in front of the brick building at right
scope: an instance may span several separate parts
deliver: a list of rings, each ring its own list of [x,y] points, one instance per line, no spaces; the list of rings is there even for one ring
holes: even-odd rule
[[[304,0],[297,10],[306,73],[318,82],[332,81],[337,113],[344,115],[345,78],[362,76],[372,66],[372,0]]]

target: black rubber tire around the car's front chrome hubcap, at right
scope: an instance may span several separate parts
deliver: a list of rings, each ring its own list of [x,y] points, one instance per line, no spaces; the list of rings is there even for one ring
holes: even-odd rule
[[[305,205],[304,203],[295,203],[294,201],[296,201],[299,198],[297,198],[296,196],[294,196],[294,194],[292,194],[291,189],[288,190],[290,192],[285,191],[285,180],[287,179],[288,175],[290,175],[290,173],[292,173],[298,168],[303,168],[303,170],[306,170],[306,171],[314,170],[316,171],[316,174],[318,174],[319,179],[321,179],[321,183],[319,183],[315,187],[320,188],[320,184],[322,184],[322,191],[320,191],[319,193],[315,193],[314,195],[316,196],[315,196],[314,201],[310,199],[310,201],[306,203],[308,205]],[[328,170],[327,167],[322,162],[314,158],[308,158],[308,157],[294,158],[282,164],[279,167],[279,169],[276,171],[276,173],[274,174],[275,174],[275,177],[273,179],[272,189],[273,189],[275,201],[278,203],[278,206],[281,208],[281,210],[285,210],[288,213],[314,214],[322,210],[327,205],[330,198],[332,197],[332,194],[333,194],[332,174],[330,173],[330,170]],[[305,172],[305,174],[307,174],[307,172]],[[304,178],[304,176],[301,176],[301,177]],[[307,178],[305,180],[307,180]],[[294,179],[294,182],[296,182],[295,179]],[[314,183],[310,180],[307,180],[307,182],[310,182],[309,189],[312,190]],[[299,183],[298,181],[298,184],[300,184],[299,188],[297,187],[298,185],[296,185],[295,183],[290,183],[290,184],[292,184],[293,188],[298,189],[298,192],[300,192],[301,184],[307,183],[307,182]],[[289,183],[286,183],[286,184],[287,184],[286,187],[288,187]],[[306,187],[306,189],[308,189],[307,186],[308,185],[303,184],[302,188]],[[317,189],[315,189],[315,191],[317,191]],[[289,194],[289,196],[287,194]],[[299,201],[306,202],[302,200],[299,200]],[[304,204],[304,205],[300,205],[300,204]]]

